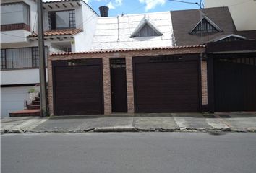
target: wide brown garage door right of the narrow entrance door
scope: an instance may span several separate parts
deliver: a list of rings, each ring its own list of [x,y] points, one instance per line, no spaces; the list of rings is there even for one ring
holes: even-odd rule
[[[135,57],[136,112],[200,110],[198,56]]]

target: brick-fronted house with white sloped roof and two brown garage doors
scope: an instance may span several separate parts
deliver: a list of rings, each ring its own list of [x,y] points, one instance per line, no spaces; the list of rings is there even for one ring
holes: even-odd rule
[[[203,52],[174,46],[170,12],[99,17],[91,50],[50,56],[50,112],[198,112]]]

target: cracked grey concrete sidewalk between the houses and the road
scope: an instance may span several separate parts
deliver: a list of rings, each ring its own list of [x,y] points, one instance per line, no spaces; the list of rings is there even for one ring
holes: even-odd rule
[[[256,132],[256,112],[7,117],[1,133],[83,133],[140,131]]]

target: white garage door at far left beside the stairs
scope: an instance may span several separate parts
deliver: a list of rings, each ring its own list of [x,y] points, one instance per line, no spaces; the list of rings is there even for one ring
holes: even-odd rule
[[[17,86],[1,88],[1,117],[9,117],[9,112],[24,109],[28,97],[27,91],[33,86]]]

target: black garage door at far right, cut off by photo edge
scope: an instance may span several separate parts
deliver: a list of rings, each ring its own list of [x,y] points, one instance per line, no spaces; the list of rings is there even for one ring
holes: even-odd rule
[[[216,58],[215,111],[256,110],[256,58]]]

